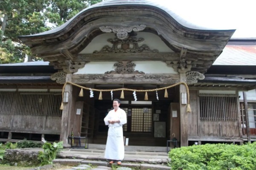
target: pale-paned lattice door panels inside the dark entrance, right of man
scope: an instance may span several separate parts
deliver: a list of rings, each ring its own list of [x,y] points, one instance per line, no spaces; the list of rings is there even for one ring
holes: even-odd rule
[[[147,113],[143,113],[143,108],[132,108],[131,113],[132,132],[151,132],[151,108],[148,108]]]

